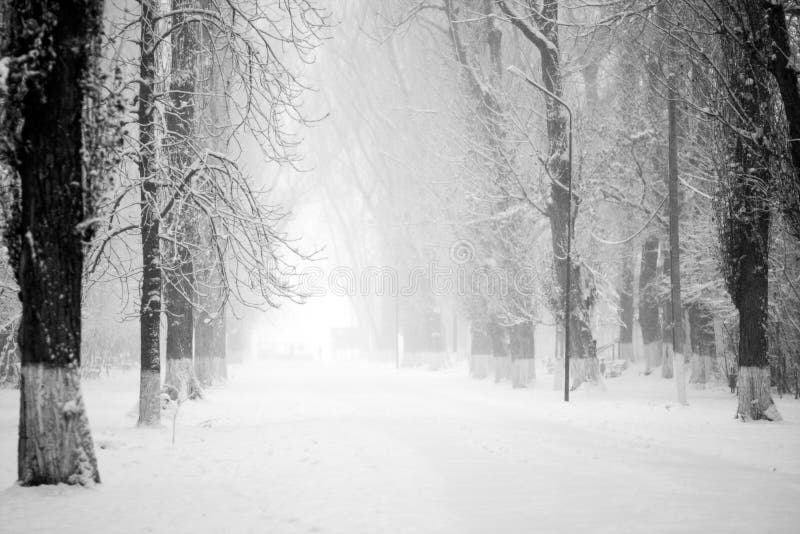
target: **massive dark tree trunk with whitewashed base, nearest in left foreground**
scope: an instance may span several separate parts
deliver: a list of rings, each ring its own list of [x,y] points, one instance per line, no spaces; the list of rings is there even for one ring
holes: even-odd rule
[[[22,301],[19,482],[100,482],[80,387],[83,239],[91,238],[82,229],[91,196],[80,184],[82,82],[102,3],[14,0],[7,8],[2,55],[14,59],[3,128],[20,183],[6,230]]]

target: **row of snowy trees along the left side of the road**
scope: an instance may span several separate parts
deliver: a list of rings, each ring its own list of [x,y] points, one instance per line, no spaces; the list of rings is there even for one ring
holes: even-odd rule
[[[102,2],[10,0],[0,12],[19,480],[98,482],[80,393],[93,291],[136,295],[142,426],[159,423],[165,399],[224,381],[232,302],[301,298],[292,270],[307,256],[239,160],[245,147],[276,166],[296,158],[298,72],[326,14],[307,0],[141,0],[105,14]]]

